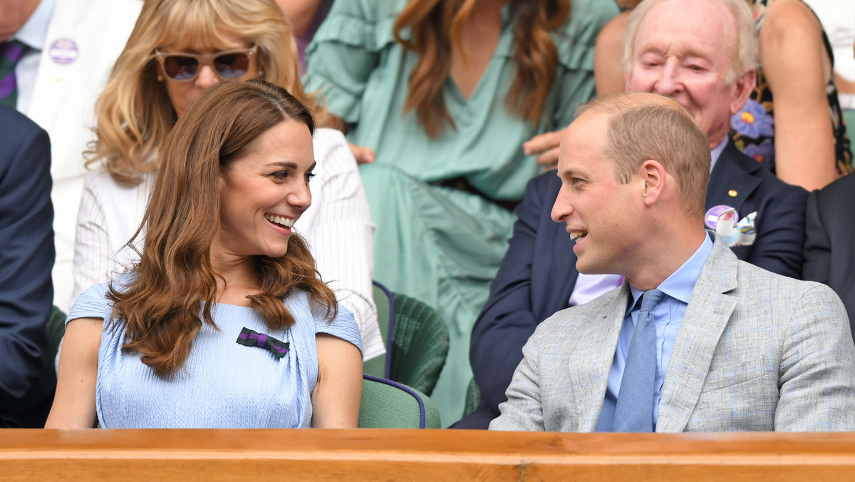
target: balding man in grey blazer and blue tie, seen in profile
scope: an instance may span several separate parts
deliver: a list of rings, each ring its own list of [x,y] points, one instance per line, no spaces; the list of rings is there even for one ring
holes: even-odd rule
[[[840,299],[705,231],[710,160],[673,100],[583,106],[561,141],[552,218],[576,240],[580,272],[625,281],[540,324],[491,430],[855,430]]]

